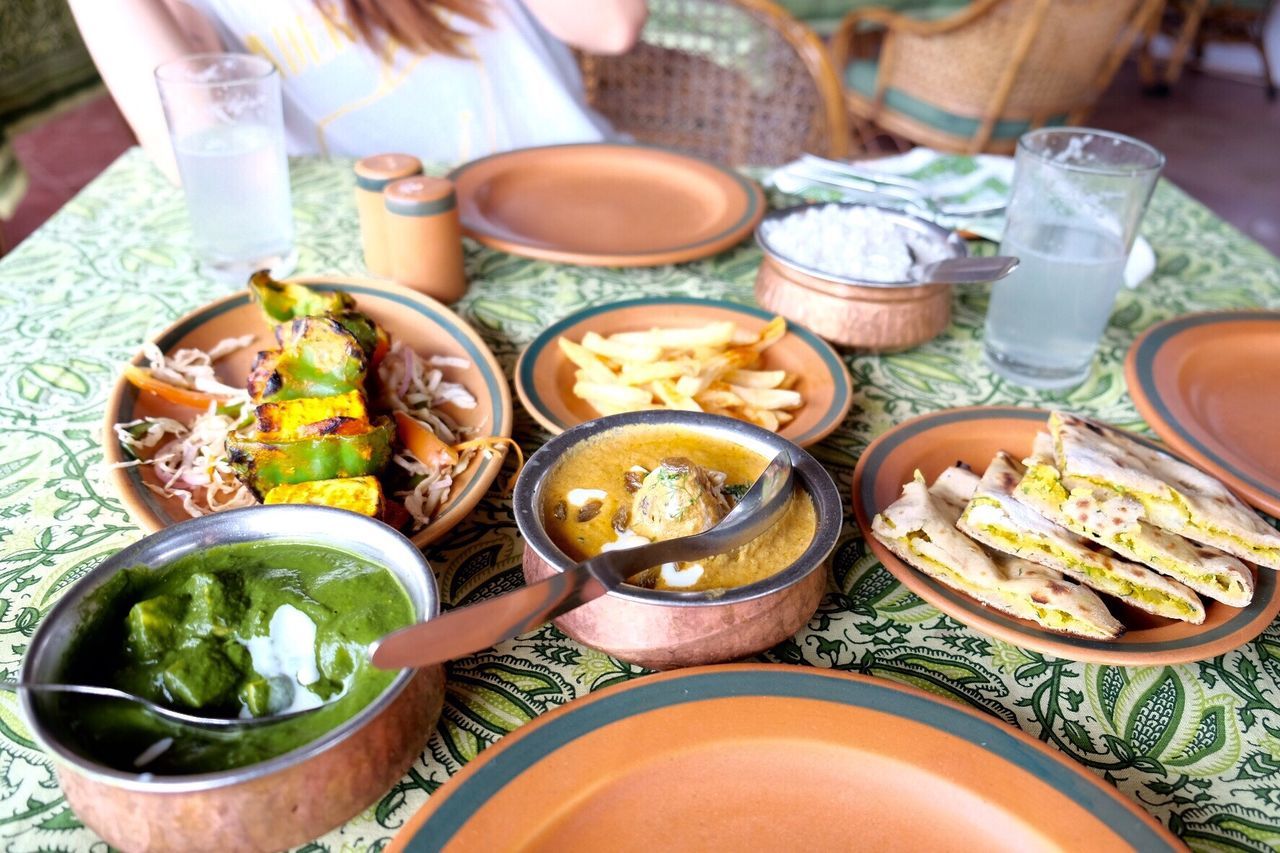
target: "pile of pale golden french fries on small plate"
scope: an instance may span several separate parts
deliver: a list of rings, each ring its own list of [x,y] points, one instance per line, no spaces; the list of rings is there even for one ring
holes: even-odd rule
[[[799,377],[762,365],[762,353],[786,330],[778,316],[759,333],[724,320],[608,337],[588,332],[581,342],[562,337],[558,343],[577,368],[573,394],[602,415],[684,409],[777,432],[804,405]]]

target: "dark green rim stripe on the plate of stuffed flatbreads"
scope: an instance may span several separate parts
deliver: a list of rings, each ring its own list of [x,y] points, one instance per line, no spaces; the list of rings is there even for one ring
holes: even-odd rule
[[[864,456],[865,462],[863,467],[863,479],[859,485],[858,498],[867,511],[867,516],[872,517],[884,507],[876,505],[876,478],[879,473],[881,465],[888,459],[890,453],[897,448],[899,444],[909,438],[914,438],[920,433],[928,432],[942,424],[961,423],[966,420],[989,420],[998,418],[1010,418],[1016,420],[1034,420],[1043,423],[1048,418],[1047,411],[1034,410],[1034,409],[979,409],[969,411],[940,411],[933,415],[924,415],[915,423],[908,424],[904,428],[895,428],[893,434],[888,441],[879,444],[874,451]],[[1132,433],[1130,433],[1132,435]],[[1164,447],[1156,447],[1148,441],[1144,441],[1142,435],[1133,435],[1144,444],[1151,446],[1155,450],[1167,453],[1169,450]],[[913,570],[914,571],[914,570]],[[966,613],[972,613],[975,617],[987,619],[993,622],[998,622],[1007,630],[1027,637],[1034,640],[1043,640],[1044,633],[1038,630],[1032,630],[1027,625],[1019,622],[1011,616],[1006,616],[997,610],[986,607],[968,596],[963,596],[950,587],[946,587],[933,578],[923,573],[916,573],[919,579],[928,584],[937,596],[945,598],[957,610]],[[1171,652],[1175,649],[1194,648],[1197,646],[1204,646],[1212,643],[1213,640],[1234,634],[1235,631],[1243,629],[1251,621],[1258,617],[1266,607],[1271,605],[1276,596],[1276,573],[1261,570],[1257,573],[1257,581],[1253,589],[1253,601],[1249,602],[1247,607],[1242,607],[1235,611],[1231,619],[1226,620],[1216,628],[1201,631],[1198,634],[1192,634],[1183,637],[1180,639],[1165,640],[1162,643],[1124,643],[1123,646],[1116,646],[1114,642],[1103,640],[1091,640],[1078,637],[1069,637],[1066,634],[1052,634],[1052,638],[1057,643],[1064,646],[1073,646],[1082,649],[1097,649],[1097,651],[1117,651],[1124,652]],[[1234,608],[1233,608],[1234,610]],[[961,620],[964,621],[964,620]],[[1260,629],[1261,630],[1261,629]]]

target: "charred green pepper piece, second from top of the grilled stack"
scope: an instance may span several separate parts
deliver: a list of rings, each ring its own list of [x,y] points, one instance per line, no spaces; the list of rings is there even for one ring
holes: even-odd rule
[[[329,316],[300,316],[276,328],[279,350],[264,350],[248,374],[256,402],[333,397],[364,391],[369,359],[355,336]]]

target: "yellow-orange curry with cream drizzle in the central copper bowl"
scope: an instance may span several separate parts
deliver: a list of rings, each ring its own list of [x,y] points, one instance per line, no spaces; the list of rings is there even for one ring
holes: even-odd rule
[[[586,560],[614,548],[692,535],[716,525],[768,460],[716,435],[672,426],[622,426],[567,452],[543,489],[543,523],[561,551]],[[631,579],[653,589],[724,589],[773,575],[817,532],[801,489],[778,523],[727,553],[655,566]]]

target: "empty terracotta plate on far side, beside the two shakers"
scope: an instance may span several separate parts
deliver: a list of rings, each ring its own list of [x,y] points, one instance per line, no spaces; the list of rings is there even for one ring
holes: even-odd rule
[[[641,145],[553,145],[458,167],[462,229],[513,255],[595,266],[707,257],[751,233],[764,193],[723,167]]]

